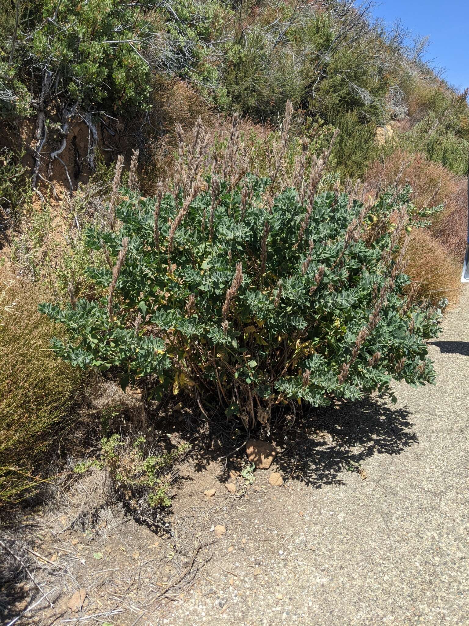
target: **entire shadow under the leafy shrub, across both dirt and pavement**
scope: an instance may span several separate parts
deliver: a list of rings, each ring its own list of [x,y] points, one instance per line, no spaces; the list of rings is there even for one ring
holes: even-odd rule
[[[258,439],[275,444],[275,466],[285,480],[294,478],[321,488],[345,484],[343,472],[359,472],[360,464],[373,454],[401,454],[418,443],[410,418],[407,409],[368,398],[338,407],[306,409],[290,430],[285,431],[282,421],[272,425],[270,435],[248,434],[239,424],[223,419],[206,422],[201,429],[193,414],[191,428],[181,429],[179,436],[193,446],[193,471],[201,473],[209,466],[213,471],[216,466],[221,483],[229,481],[230,469],[239,471],[247,463],[246,439]]]

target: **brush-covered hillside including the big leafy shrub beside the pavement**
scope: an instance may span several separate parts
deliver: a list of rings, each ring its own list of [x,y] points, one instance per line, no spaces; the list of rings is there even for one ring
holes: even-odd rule
[[[153,400],[184,388],[206,414],[204,389],[250,428],[293,400],[433,380],[469,109],[425,39],[347,0],[0,0],[0,16],[0,498],[31,493],[86,381],[53,334],[75,366]],[[64,329],[34,314],[42,294]]]

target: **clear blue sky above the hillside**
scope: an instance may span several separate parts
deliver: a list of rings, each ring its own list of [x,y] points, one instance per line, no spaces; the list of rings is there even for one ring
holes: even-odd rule
[[[378,0],[375,16],[391,24],[400,18],[414,34],[430,35],[428,58],[446,68],[444,78],[469,87],[469,0]]]

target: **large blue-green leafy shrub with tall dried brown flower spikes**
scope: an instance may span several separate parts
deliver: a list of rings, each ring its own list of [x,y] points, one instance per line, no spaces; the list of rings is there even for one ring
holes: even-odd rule
[[[189,146],[181,138],[174,178],[154,197],[131,172],[119,200],[118,165],[108,227],[86,239],[108,262],[89,269],[96,295],[41,305],[68,329],[54,340],[60,356],[154,397],[190,387],[202,411],[215,399],[248,428],[285,403],[433,382],[425,339],[440,314],[403,273],[405,231],[431,210],[409,188],[351,200],[325,175],[330,148],[311,155],[302,141],[292,164],[290,119],[291,108],[268,177],[246,173],[236,117],[222,151],[200,123]]]

